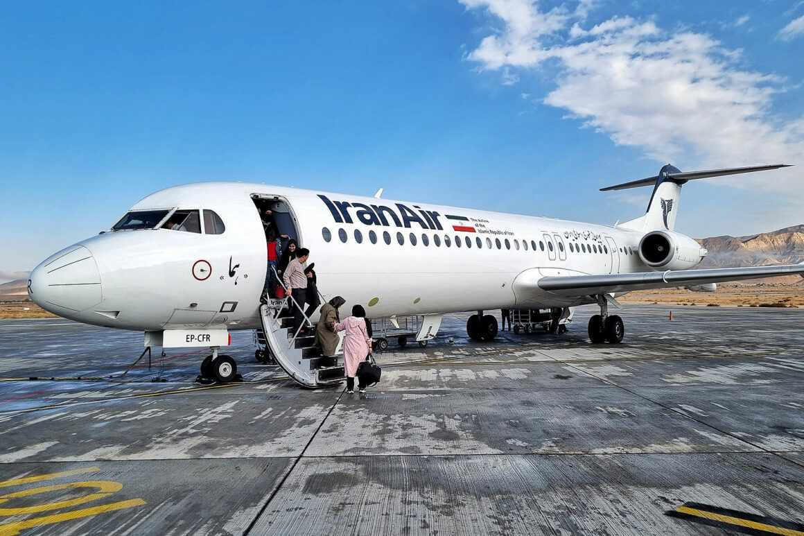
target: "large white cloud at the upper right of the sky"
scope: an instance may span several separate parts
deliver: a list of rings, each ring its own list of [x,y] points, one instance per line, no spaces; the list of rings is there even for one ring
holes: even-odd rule
[[[687,169],[804,164],[804,118],[783,121],[772,111],[783,80],[740,67],[740,51],[709,35],[666,31],[653,20],[631,17],[613,17],[586,30],[566,8],[545,14],[536,2],[461,2],[484,8],[502,23],[469,60],[488,71],[539,69],[550,60],[558,73],[544,103],[568,110],[569,117],[617,144]],[[500,3],[516,3],[518,9],[500,9]],[[804,182],[791,170],[724,183],[794,192],[804,200]]]

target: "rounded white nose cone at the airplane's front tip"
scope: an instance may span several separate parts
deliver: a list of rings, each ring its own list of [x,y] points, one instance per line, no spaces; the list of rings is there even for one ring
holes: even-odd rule
[[[92,253],[72,245],[51,255],[31,272],[28,295],[39,307],[62,316],[97,305],[103,295]]]

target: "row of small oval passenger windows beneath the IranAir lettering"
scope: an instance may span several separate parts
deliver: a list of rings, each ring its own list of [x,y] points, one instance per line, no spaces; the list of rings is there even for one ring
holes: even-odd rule
[[[324,227],[321,230],[321,233],[322,233],[322,237],[324,238],[324,241],[326,241],[326,242],[332,241],[332,233],[330,232],[330,229]],[[340,241],[342,241],[344,244],[346,244],[347,240],[349,239],[346,229],[343,229],[343,228],[338,229],[338,238],[340,239]],[[377,241],[378,241],[377,233],[375,233],[374,231],[369,231],[368,232],[368,240],[371,241],[372,244],[376,244]],[[391,242],[392,242],[391,233],[388,233],[388,231],[384,231],[383,232],[383,241],[387,245],[391,245]],[[410,242],[411,245],[416,245],[418,243],[418,237],[416,237],[416,233],[410,233],[408,235],[408,241]],[[355,242],[357,242],[358,244],[363,243],[363,233],[360,231],[360,229],[355,229]],[[404,245],[405,237],[404,237],[403,233],[400,233],[400,232],[396,233],[396,242],[399,245]],[[458,235],[455,235],[454,244],[455,244],[455,247],[457,247],[457,248],[461,247],[461,244],[466,244],[467,248],[471,248],[473,243],[478,249],[481,249],[483,247],[483,240],[482,240],[481,237],[475,237],[474,242],[473,242],[471,237],[469,237],[469,236],[463,237],[463,241],[461,241],[461,237],[458,236]],[[421,234],[421,244],[425,245],[425,246],[430,245],[430,237],[425,233]],[[441,246],[441,236],[440,235],[437,235],[437,234],[433,235],[433,245],[435,245],[436,247]],[[448,234],[444,235],[444,245],[446,247],[448,247],[448,248],[453,245],[453,239],[451,237],[449,237]],[[494,238],[494,242],[492,242],[491,238],[486,237],[486,247],[489,248],[489,249],[493,249],[494,245],[497,246],[497,249],[503,249],[503,246],[505,246],[505,249],[511,249],[511,245],[513,245],[514,249],[519,250],[520,247],[521,247],[525,251],[528,250],[528,246],[530,246],[530,249],[532,249],[533,251],[536,251],[536,248],[537,248],[535,240],[531,240],[530,243],[528,243],[527,240],[523,240],[521,242],[521,245],[520,245],[519,240],[517,240],[516,238],[513,239],[513,241],[509,240],[508,238],[504,238],[502,241],[499,238]],[[541,251],[544,251],[545,249],[548,249],[551,252],[556,249],[555,246],[553,245],[552,241],[547,241],[547,246],[545,248],[545,241],[541,241],[541,240],[539,240],[538,248]],[[563,242],[558,242],[558,250],[561,253],[564,253],[564,243]],[[570,242],[569,243],[569,251],[570,251],[570,253],[609,254],[609,247],[607,245],[597,245],[597,244],[591,244],[590,245],[590,244],[586,244],[586,243],[574,244],[574,243]],[[625,253],[625,254],[634,254],[634,253],[636,253],[630,247],[620,248],[620,251]]]

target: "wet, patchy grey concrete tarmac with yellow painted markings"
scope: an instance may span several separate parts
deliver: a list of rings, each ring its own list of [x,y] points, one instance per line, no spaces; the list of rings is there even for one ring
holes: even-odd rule
[[[244,381],[199,386],[201,351],[0,321],[0,536],[804,535],[804,310],[626,306],[619,345],[594,312],[493,343],[450,315],[364,400],[251,332]]]

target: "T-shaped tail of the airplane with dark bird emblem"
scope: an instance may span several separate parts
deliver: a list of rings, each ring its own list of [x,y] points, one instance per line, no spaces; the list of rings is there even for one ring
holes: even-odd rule
[[[650,201],[648,202],[648,209],[645,212],[645,216],[638,217],[636,220],[626,221],[620,224],[620,226],[626,227],[627,229],[642,231],[652,231],[655,229],[667,229],[672,231],[675,228],[675,216],[679,213],[681,187],[688,180],[708,179],[710,177],[737,175],[739,173],[752,173],[753,171],[768,171],[780,167],[790,167],[790,165],[773,164],[772,166],[732,167],[727,169],[683,172],[677,167],[667,164],[667,166],[659,170],[658,175],[655,177],[632,180],[628,183],[601,188],[601,192],[639,188],[652,184],[654,191],[650,195]]]

